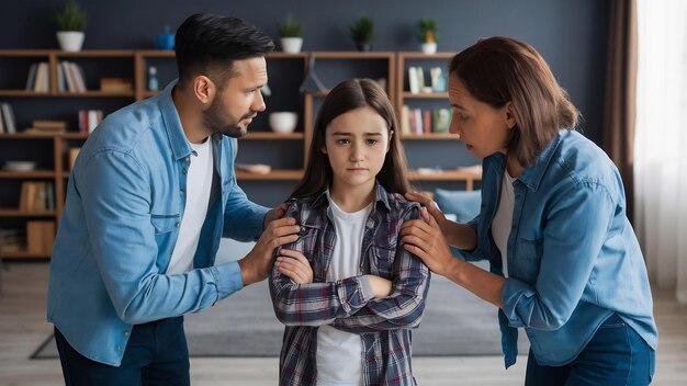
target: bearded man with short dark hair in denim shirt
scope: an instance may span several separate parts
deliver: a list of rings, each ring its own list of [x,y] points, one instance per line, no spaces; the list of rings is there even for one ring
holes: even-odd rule
[[[176,36],[178,81],[86,141],[48,290],[67,385],[188,385],[182,315],[264,280],[274,248],[297,239],[292,218],[277,219],[283,208],[251,203],[234,175],[233,138],[266,107],[273,47],[241,20],[190,16]],[[221,237],[258,236],[245,258],[213,266]]]

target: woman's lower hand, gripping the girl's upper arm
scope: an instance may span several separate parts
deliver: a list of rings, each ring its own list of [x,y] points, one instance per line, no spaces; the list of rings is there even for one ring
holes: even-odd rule
[[[455,259],[433,216],[429,217],[429,224],[421,219],[403,223],[401,237],[403,248],[420,258],[432,272],[442,276],[448,274]]]

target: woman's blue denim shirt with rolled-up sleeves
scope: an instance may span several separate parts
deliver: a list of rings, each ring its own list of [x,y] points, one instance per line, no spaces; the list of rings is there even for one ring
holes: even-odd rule
[[[505,167],[502,154],[483,161],[482,208],[470,223],[477,248],[464,253],[489,260],[497,274],[502,257],[491,229]],[[555,366],[574,360],[612,313],[655,350],[644,260],[620,174],[606,154],[577,132],[561,130],[513,185],[508,279],[498,313],[506,367],[516,361],[516,328],[525,328],[540,365]]]

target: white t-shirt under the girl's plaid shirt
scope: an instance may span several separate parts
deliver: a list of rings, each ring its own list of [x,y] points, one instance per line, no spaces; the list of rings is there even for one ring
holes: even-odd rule
[[[336,243],[327,271],[327,281],[359,274],[362,236],[372,204],[354,213],[341,211],[329,198],[334,215]],[[320,326],[317,330],[317,386],[362,385],[362,340],[357,333]]]

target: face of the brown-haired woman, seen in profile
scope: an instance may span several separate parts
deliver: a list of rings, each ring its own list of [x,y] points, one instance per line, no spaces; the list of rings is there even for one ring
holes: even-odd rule
[[[449,102],[453,107],[449,130],[460,135],[470,152],[478,158],[496,151],[506,154],[510,129],[516,124],[511,102],[500,109],[480,102],[455,75],[449,77]]]

